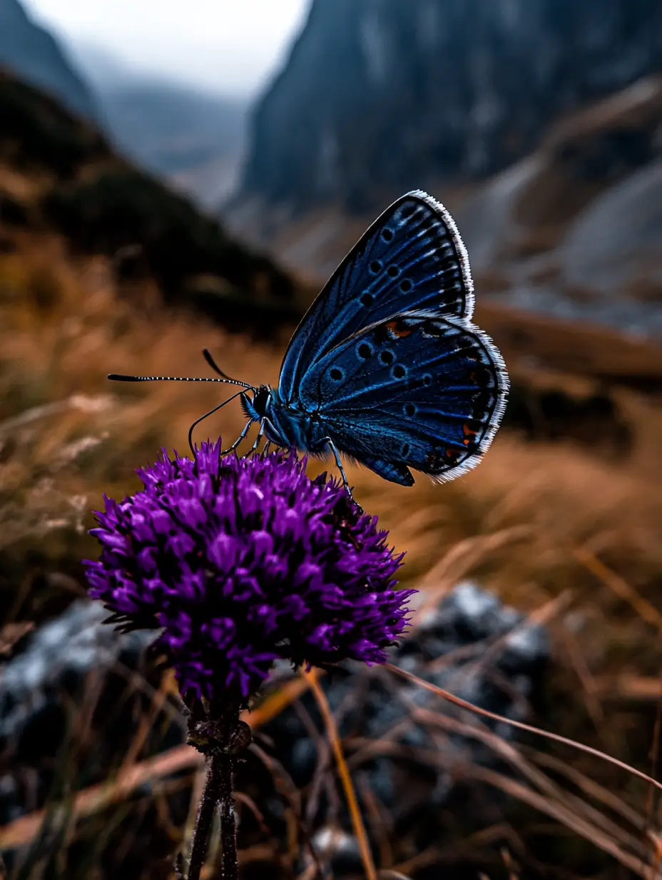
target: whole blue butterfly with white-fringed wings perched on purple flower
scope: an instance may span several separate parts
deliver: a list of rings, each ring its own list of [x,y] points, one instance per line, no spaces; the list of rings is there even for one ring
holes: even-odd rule
[[[331,451],[350,497],[340,454],[385,480],[411,486],[411,469],[453,480],[476,466],[506,407],[506,365],[471,323],[469,258],[453,218],[417,190],[384,211],[331,275],[295,331],[277,388],[230,378],[120,376],[240,385],[247,422],[267,447]],[[229,403],[221,404],[193,422]]]

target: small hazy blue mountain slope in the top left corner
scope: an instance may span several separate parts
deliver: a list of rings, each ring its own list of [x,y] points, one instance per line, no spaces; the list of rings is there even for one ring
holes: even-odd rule
[[[18,0],[0,0],[0,67],[50,92],[74,113],[96,119],[91,89],[55,37]]]

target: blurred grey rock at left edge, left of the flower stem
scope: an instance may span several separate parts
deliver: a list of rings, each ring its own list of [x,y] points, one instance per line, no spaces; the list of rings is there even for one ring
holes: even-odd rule
[[[0,671],[0,825],[57,799],[62,762],[68,790],[84,788],[112,772],[135,737],[152,691],[131,677],[148,674],[145,651],[155,633],[119,634],[102,622],[107,617],[99,603],[74,602],[19,643]],[[183,732],[171,722],[149,738],[148,751],[156,752],[181,742]]]

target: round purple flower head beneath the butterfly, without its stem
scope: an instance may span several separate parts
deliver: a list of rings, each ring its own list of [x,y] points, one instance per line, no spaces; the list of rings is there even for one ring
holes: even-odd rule
[[[123,627],[163,628],[183,693],[245,704],[273,661],[383,663],[407,625],[397,590],[402,555],[377,517],[360,514],[336,481],[310,480],[294,453],[197,460],[138,471],[144,488],[105,498],[86,561],[90,594]]]

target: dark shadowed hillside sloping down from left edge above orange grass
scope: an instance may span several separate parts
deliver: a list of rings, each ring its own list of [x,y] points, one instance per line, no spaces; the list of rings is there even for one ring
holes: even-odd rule
[[[103,255],[120,288],[142,279],[166,304],[225,326],[270,333],[298,314],[272,260],[118,156],[90,122],[0,71],[0,249],[30,234]]]

